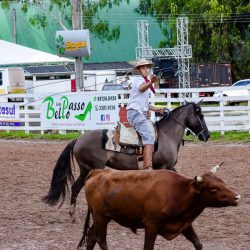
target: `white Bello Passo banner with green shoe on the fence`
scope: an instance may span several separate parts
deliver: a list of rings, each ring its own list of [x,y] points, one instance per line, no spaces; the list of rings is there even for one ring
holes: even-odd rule
[[[43,129],[114,128],[119,120],[117,94],[48,96],[42,102]]]

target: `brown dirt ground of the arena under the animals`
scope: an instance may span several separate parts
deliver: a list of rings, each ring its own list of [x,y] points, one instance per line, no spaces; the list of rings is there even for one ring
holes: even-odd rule
[[[69,199],[61,209],[42,203],[63,142],[0,140],[0,249],[71,250],[82,236],[86,214],[84,191],[78,198],[81,222],[72,224]],[[204,250],[250,249],[250,144],[186,144],[177,170],[194,177],[224,160],[217,175],[242,196],[237,207],[206,209],[193,223]],[[133,234],[115,223],[108,228],[110,250],[143,248],[144,232]],[[99,249],[96,247],[95,249]],[[155,249],[194,249],[184,237],[157,237]]]

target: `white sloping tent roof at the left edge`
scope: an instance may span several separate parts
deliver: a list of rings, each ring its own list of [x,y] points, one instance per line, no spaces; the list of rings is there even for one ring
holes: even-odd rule
[[[4,40],[0,40],[0,55],[0,66],[72,62],[72,60],[67,58],[6,42]]]

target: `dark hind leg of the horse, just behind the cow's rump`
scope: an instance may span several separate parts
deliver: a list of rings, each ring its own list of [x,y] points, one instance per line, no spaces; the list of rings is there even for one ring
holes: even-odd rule
[[[77,178],[77,180],[75,181],[75,183],[72,185],[71,187],[71,199],[70,199],[70,209],[69,209],[69,215],[72,219],[72,222],[79,222],[79,219],[76,216],[76,200],[77,200],[77,196],[80,193],[82,187],[84,186],[84,182],[86,179],[86,176],[88,175],[87,170],[83,169],[82,167],[80,167],[80,175]]]

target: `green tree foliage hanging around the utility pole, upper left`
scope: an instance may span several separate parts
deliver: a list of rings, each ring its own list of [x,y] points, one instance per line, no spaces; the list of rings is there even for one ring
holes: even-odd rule
[[[83,28],[89,29],[90,32],[102,42],[118,40],[120,36],[119,26],[110,27],[109,22],[107,20],[102,20],[98,15],[98,12],[106,7],[112,8],[113,5],[119,5],[121,2],[122,0],[83,0]],[[127,0],[127,2],[129,2],[129,0]],[[29,17],[30,23],[34,26],[42,28],[46,27],[48,25],[48,16],[50,16],[63,29],[72,28],[71,0],[3,0],[1,1],[1,6],[3,8],[10,8],[14,3],[21,4],[23,13],[27,13],[31,6],[39,10],[34,16]]]

